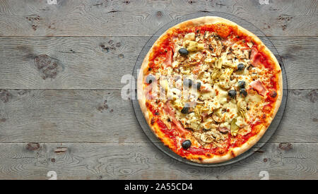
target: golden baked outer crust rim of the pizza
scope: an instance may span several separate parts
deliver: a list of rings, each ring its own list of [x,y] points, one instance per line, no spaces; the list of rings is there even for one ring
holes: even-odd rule
[[[255,145],[261,139],[261,137],[264,135],[264,133],[266,132],[271,121],[276,116],[276,113],[281,105],[281,99],[283,97],[283,78],[282,78],[282,74],[281,74],[281,66],[279,66],[279,63],[278,63],[276,57],[271,53],[271,51],[266,47],[266,45],[263,42],[261,42],[259,37],[254,35],[252,32],[249,32],[245,28],[242,28],[240,25],[233,23],[230,20],[216,17],[216,16],[205,16],[205,17],[201,17],[201,18],[187,20],[187,21],[179,23],[179,24],[175,25],[174,27],[165,31],[163,33],[163,35],[161,35],[158,38],[158,40],[155,41],[155,43],[153,44],[153,47],[151,47],[151,49],[148,51],[148,54],[146,55],[145,59],[143,60],[142,65],[141,65],[141,71],[139,73],[138,80],[137,80],[137,96],[139,99],[139,105],[141,107],[141,111],[143,112],[143,115],[145,116],[145,119],[148,123],[148,126],[150,126],[153,133],[155,133],[155,126],[151,125],[151,119],[149,117],[148,109],[146,108],[146,96],[143,94],[143,78],[144,78],[143,71],[147,71],[148,62],[149,62],[148,59],[149,59],[150,54],[153,51],[153,48],[160,43],[160,40],[162,40],[163,37],[165,37],[165,35],[172,32],[172,30],[175,28],[191,28],[191,27],[195,27],[195,26],[199,26],[199,25],[209,25],[209,24],[215,24],[215,23],[225,23],[226,25],[232,25],[234,27],[237,27],[238,32],[242,32],[242,34],[247,35],[248,37],[251,37],[251,39],[254,42],[257,42],[257,44],[259,44],[259,47],[261,47],[261,51],[266,53],[267,56],[270,56],[273,63],[275,63],[276,70],[277,70],[278,87],[279,88],[276,91],[277,92],[277,99],[276,99],[275,107],[273,107],[271,118],[269,118],[267,120],[266,126],[264,126],[264,125],[261,126],[261,129],[260,129],[259,133],[257,133],[257,135],[254,135],[253,137],[249,138],[249,140],[247,140],[247,142],[245,142],[240,147],[230,148],[228,150],[228,152],[224,155],[213,155],[213,157],[211,157],[211,158],[201,157],[201,159],[190,159],[193,162],[197,162],[197,163],[201,163],[201,164],[225,162],[225,161],[228,161],[229,159],[232,159],[233,157],[237,157],[238,155],[242,154],[243,152],[246,152],[247,150],[249,150],[249,148],[251,148],[253,145]],[[160,138],[158,133],[155,133],[155,135],[158,138]]]

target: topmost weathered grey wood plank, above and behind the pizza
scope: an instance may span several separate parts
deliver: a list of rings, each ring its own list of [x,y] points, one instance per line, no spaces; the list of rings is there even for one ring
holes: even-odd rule
[[[0,2],[0,35],[148,36],[171,20],[200,11],[230,13],[269,36],[318,35],[317,1],[262,2],[64,0],[49,5],[47,1],[6,0]]]

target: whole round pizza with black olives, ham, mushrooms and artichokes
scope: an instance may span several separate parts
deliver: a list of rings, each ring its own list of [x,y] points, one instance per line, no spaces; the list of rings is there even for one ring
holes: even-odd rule
[[[225,162],[264,135],[281,104],[276,57],[252,32],[206,16],[168,29],[137,80],[151,131],[180,157]]]

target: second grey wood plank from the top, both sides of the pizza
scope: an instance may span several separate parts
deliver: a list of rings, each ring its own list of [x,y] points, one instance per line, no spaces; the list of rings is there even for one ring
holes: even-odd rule
[[[288,88],[317,89],[318,37],[270,40],[283,58]],[[120,89],[126,84],[122,76],[132,73],[147,41],[148,37],[0,37],[0,88]]]

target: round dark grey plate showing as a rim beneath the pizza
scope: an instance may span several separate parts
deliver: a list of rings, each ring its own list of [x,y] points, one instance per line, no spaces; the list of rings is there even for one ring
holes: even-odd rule
[[[163,27],[160,28],[157,32],[155,32],[155,34],[148,40],[148,42],[146,42],[145,46],[141,50],[139,57],[135,63],[134,72],[133,72],[135,81],[131,82],[131,83],[135,83],[134,88],[137,88],[136,87],[136,83],[137,83],[136,80],[138,78],[139,69],[141,68],[141,64],[143,62],[143,59],[145,58],[149,49],[151,49],[151,47],[153,46],[153,43],[158,39],[158,37],[160,37],[160,35],[163,34],[163,32],[165,32],[167,29],[169,29],[172,26],[177,25],[178,23],[181,23],[185,20],[191,20],[191,19],[199,18],[199,17],[203,17],[203,16],[218,16],[221,18],[225,18],[225,19],[228,19],[228,20],[231,20],[231,21],[237,23],[238,25],[242,26],[243,28],[254,33],[254,35],[257,35],[261,39],[261,41],[264,42],[266,47],[268,47],[271,50],[271,52],[276,56],[276,59],[278,60],[280,66],[281,66],[281,71],[283,73],[283,98],[282,98],[282,102],[281,102],[281,107],[278,109],[278,112],[277,112],[275,118],[271,122],[271,125],[266,130],[266,133],[263,135],[261,140],[259,140],[259,142],[257,144],[255,144],[253,147],[251,147],[246,152],[244,152],[244,153],[240,154],[239,156],[237,156],[233,159],[230,159],[226,162],[221,162],[221,163],[217,163],[217,164],[199,164],[196,162],[192,162],[188,159],[184,159],[184,158],[180,157],[178,154],[176,154],[175,152],[170,150],[169,147],[166,147],[165,145],[163,145],[163,143],[160,140],[158,140],[158,138],[155,136],[153,131],[151,131],[151,128],[149,128],[148,123],[146,122],[146,119],[144,118],[143,113],[139,107],[138,99],[132,99],[131,101],[132,101],[132,104],[134,107],[134,112],[136,114],[136,119],[138,120],[138,122],[141,126],[141,129],[147,135],[149,140],[151,140],[151,142],[156,147],[158,147],[159,150],[161,150],[162,152],[164,152],[168,156],[176,159],[179,162],[184,162],[186,164],[191,164],[193,166],[205,166],[205,167],[225,166],[228,164],[233,164],[235,162],[239,162],[240,160],[249,157],[254,152],[257,152],[257,150],[259,150],[263,145],[265,145],[265,143],[271,138],[273,133],[275,133],[276,129],[280,125],[281,119],[283,118],[283,114],[284,114],[285,107],[286,107],[286,102],[287,102],[287,90],[286,89],[288,87],[287,87],[287,79],[286,79],[285,68],[283,66],[283,61],[281,60],[281,56],[278,55],[278,51],[274,47],[273,43],[269,40],[268,37],[265,36],[265,34],[263,32],[261,32],[261,30],[259,30],[259,28],[254,26],[252,23],[249,23],[247,20],[244,20],[242,18],[238,18],[237,16],[234,16],[234,15],[231,15],[228,13],[216,12],[216,11],[211,11],[211,12],[210,11],[204,11],[204,12],[202,11],[202,12],[198,12],[198,13],[192,13],[192,14],[189,14],[187,16],[182,16],[182,17],[179,17],[175,20],[172,20],[170,23],[163,25]],[[135,90],[135,92],[136,92],[136,90]],[[137,94],[135,93],[134,96],[137,97]]]

